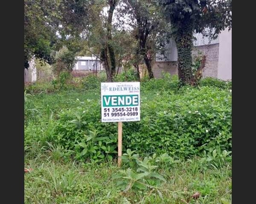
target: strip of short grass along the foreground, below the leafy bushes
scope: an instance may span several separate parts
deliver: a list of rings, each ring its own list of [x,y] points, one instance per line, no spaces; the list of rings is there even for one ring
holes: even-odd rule
[[[50,154],[56,154],[50,152]],[[117,188],[116,163],[72,163],[53,157],[26,160],[25,203],[231,203],[231,165],[205,169],[193,158],[162,165],[166,182],[145,190]],[[193,194],[200,193],[199,199]]]

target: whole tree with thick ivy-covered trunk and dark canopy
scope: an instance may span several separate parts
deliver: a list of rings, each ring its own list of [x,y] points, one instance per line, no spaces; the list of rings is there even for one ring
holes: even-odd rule
[[[177,45],[178,75],[182,84],[193,84],[193,32],[205,28],[211,37],[231,28],[231,0],[160,0]]]

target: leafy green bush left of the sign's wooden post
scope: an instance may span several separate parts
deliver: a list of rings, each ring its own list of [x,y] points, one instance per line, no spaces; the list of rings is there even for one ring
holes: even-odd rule
[[[46,146],[46,141],[67,150],[66,156],[72,154],[78,160],[102,160],[113,159],[117,149],[117,138],[115,126],[98,122],[100,118],[100,104],[76,101],[76,109],[61,111],[57,118],[47,121],[40,120],[37,126],[39,134],[33,135],[35,125],[29,123],[26,132],[25,144],[31,146],[31,137],[41,146]],[[33,122],[30,118],[30,122]],[[94,125],[96,124],[96,125]],[[102,131],[101,131],[102,130]],[[104,131],[103,131],[104,130]]]

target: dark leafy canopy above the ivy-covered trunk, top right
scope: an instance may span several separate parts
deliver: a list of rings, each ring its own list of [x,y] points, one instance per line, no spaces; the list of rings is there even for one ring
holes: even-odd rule
[[[189,22],[192,30],[202,32],[205,28],[210,28],[214,31],[211,37],[216,37],[226,27],[231,28],[231,2],[231,0],[161,0],[159,3],[162,5],[165,18],[173,26],[173,34],[184,29],[186,22]]]

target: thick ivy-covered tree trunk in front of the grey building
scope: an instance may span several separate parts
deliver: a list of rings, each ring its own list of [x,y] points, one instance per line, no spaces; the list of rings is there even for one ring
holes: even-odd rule
[[[182,85],[191,84],[192,74],[192,49],[193,49],[193,30],[190,24],[186,23],[183,29],[177,32],[175,38],[177,45],[177,66],[178,76]]]

